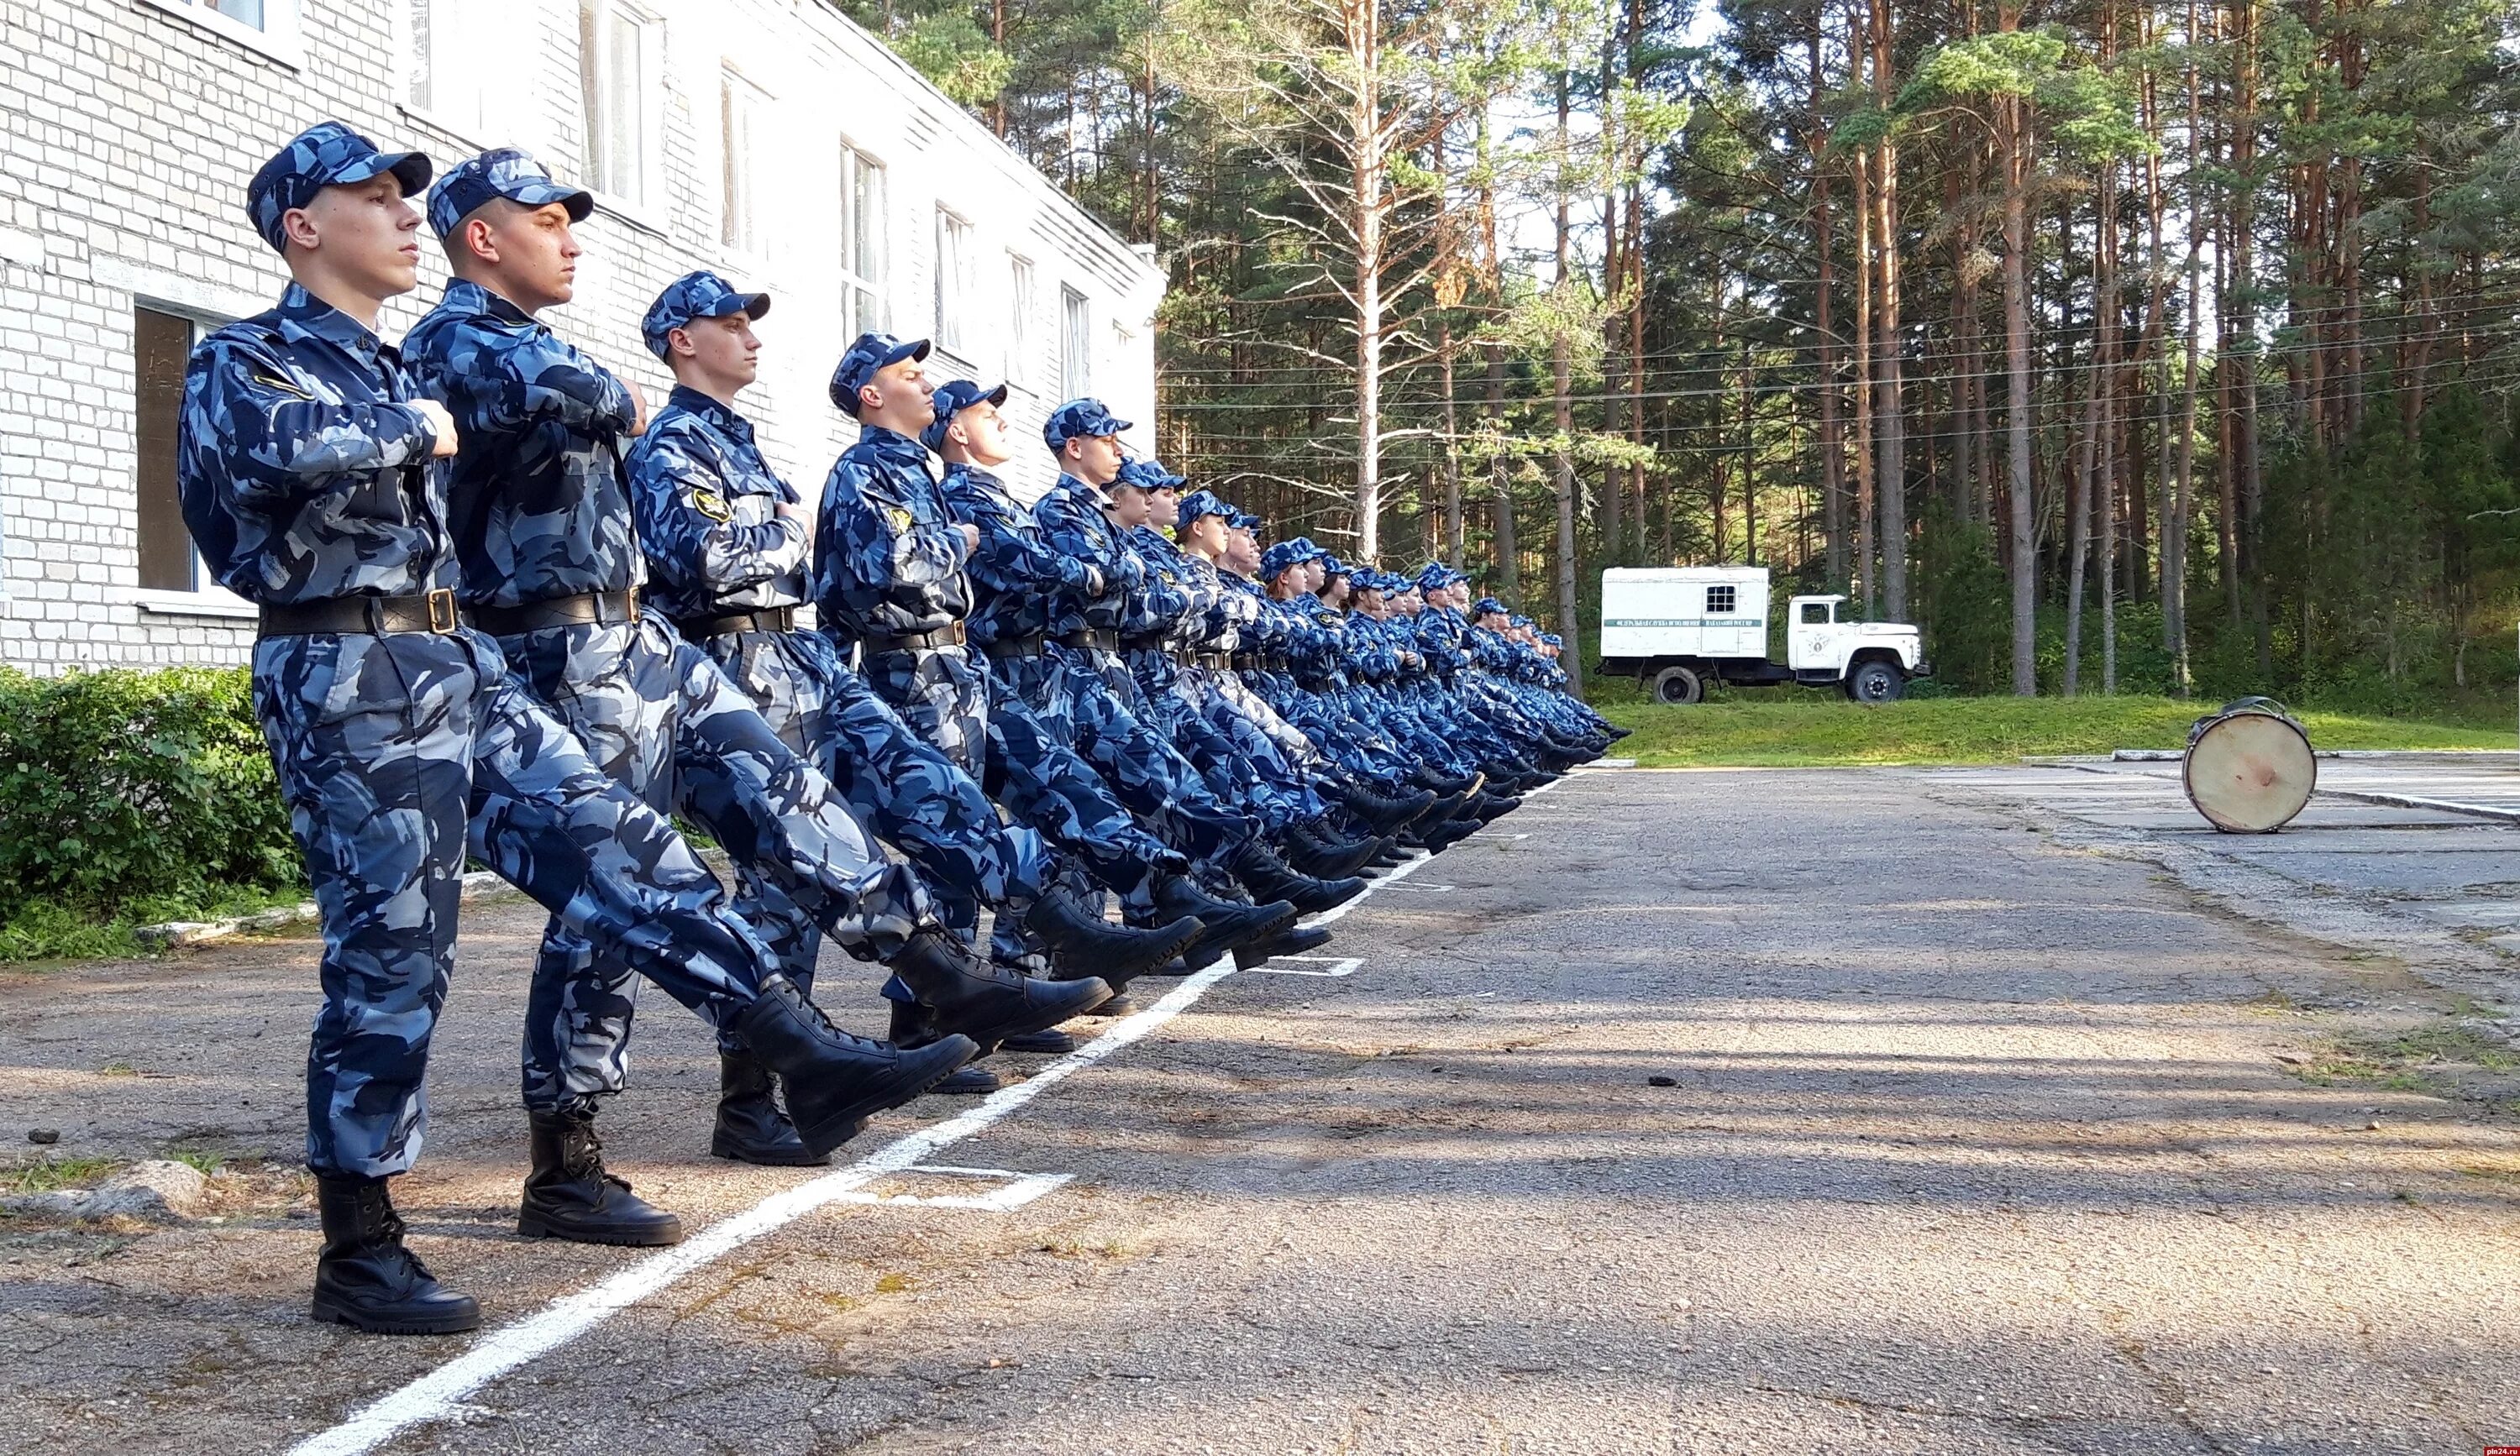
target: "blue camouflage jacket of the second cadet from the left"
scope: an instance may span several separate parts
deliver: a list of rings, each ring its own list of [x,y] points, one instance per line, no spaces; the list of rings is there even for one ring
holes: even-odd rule
[[[638,423],[630,385],[466,280],[446,285],[403,353],[464,441],[449,519],[466,605],[625,592],[645,579],[622,484],[620,436]]]

